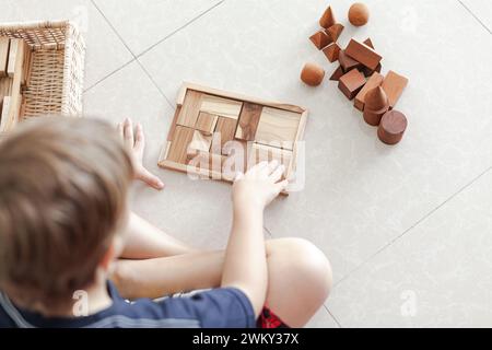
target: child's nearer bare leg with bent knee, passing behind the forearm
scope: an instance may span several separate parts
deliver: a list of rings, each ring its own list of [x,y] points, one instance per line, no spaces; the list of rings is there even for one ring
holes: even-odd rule
[[[300,238],[266,243],[268,306],[289,326],[302,327],[323,305],[331,288],[325,255]],[[224,252],[190,253],[169,258],[120,260],[113,279],[128,299],[160,298],[220,287]]]

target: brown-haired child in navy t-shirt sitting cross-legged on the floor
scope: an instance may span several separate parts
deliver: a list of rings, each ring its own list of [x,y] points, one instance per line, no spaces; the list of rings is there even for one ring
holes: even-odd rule
[[[282,167],[238,176],[226,250],[200,252],[129,212],[133,178],[163,187],[143,148],[128,119],[39,118],[0,142],[0,327],[304,326],[331,272],[306,241],[263,241]]]

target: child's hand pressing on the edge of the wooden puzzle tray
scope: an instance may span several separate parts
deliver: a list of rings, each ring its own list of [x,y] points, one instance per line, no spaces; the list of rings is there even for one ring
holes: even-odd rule
[[[233,186],[234,206],[239,209],[249,206],[265,209],[288,186],[286,179],[279,182],[283,172],[284,166],[272,161],[261,162],[246,174],[239,174]]]

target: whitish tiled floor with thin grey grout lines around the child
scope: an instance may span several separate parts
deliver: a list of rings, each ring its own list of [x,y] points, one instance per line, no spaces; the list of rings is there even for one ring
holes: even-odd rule
[[[159,170],[181,81],[301,104],[306,186],[266,214],[273,237],[329,256],[336,285],[314,327],[492,325],[492,8],[488,0],[366,0],[388,69],[410,78],[397,147],[377,141],[333,82],[309,89],[303,62],[331,72],[307,37],[342,0],[0,0],[0,21],[70,18],[87,42],[85,112],[140,120],[145,162],[165,180],[136,187],[133,208],[167,232],[222,247],[230,188]]]

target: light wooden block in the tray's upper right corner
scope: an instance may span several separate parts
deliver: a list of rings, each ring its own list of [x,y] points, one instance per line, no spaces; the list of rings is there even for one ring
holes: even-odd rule
[[[300,126],[298,113],[263,107],[255,141],[262,144],[280,143],[281,148],[292,150]]]

